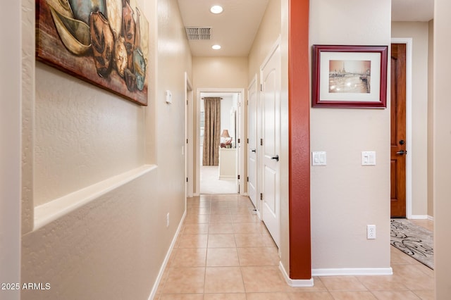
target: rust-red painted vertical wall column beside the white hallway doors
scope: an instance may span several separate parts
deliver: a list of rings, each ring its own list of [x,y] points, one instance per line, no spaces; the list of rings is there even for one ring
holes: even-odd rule
[[[311,279],[309,0],[289,0],[290,278]]]

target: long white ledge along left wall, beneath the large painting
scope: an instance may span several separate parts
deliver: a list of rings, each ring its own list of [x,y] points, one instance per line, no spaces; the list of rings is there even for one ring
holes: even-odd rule
[[[111,192],[113,189],[117,189],[154,169],[156,169],[156,165],[142,165],[139,168],[97,182],[94,185],[79,189],[66,196],[49,201],[46,204],[36,206],[35,226],[33,230],[44,227],[54,220],[61,218],[61,216],[75,211],[77,208],[99,198],[99,196]]]

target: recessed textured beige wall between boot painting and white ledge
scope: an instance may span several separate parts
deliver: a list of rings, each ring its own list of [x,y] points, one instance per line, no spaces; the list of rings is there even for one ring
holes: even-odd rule
[[[144,163],[144,107],[36,68],[35,206]]]

